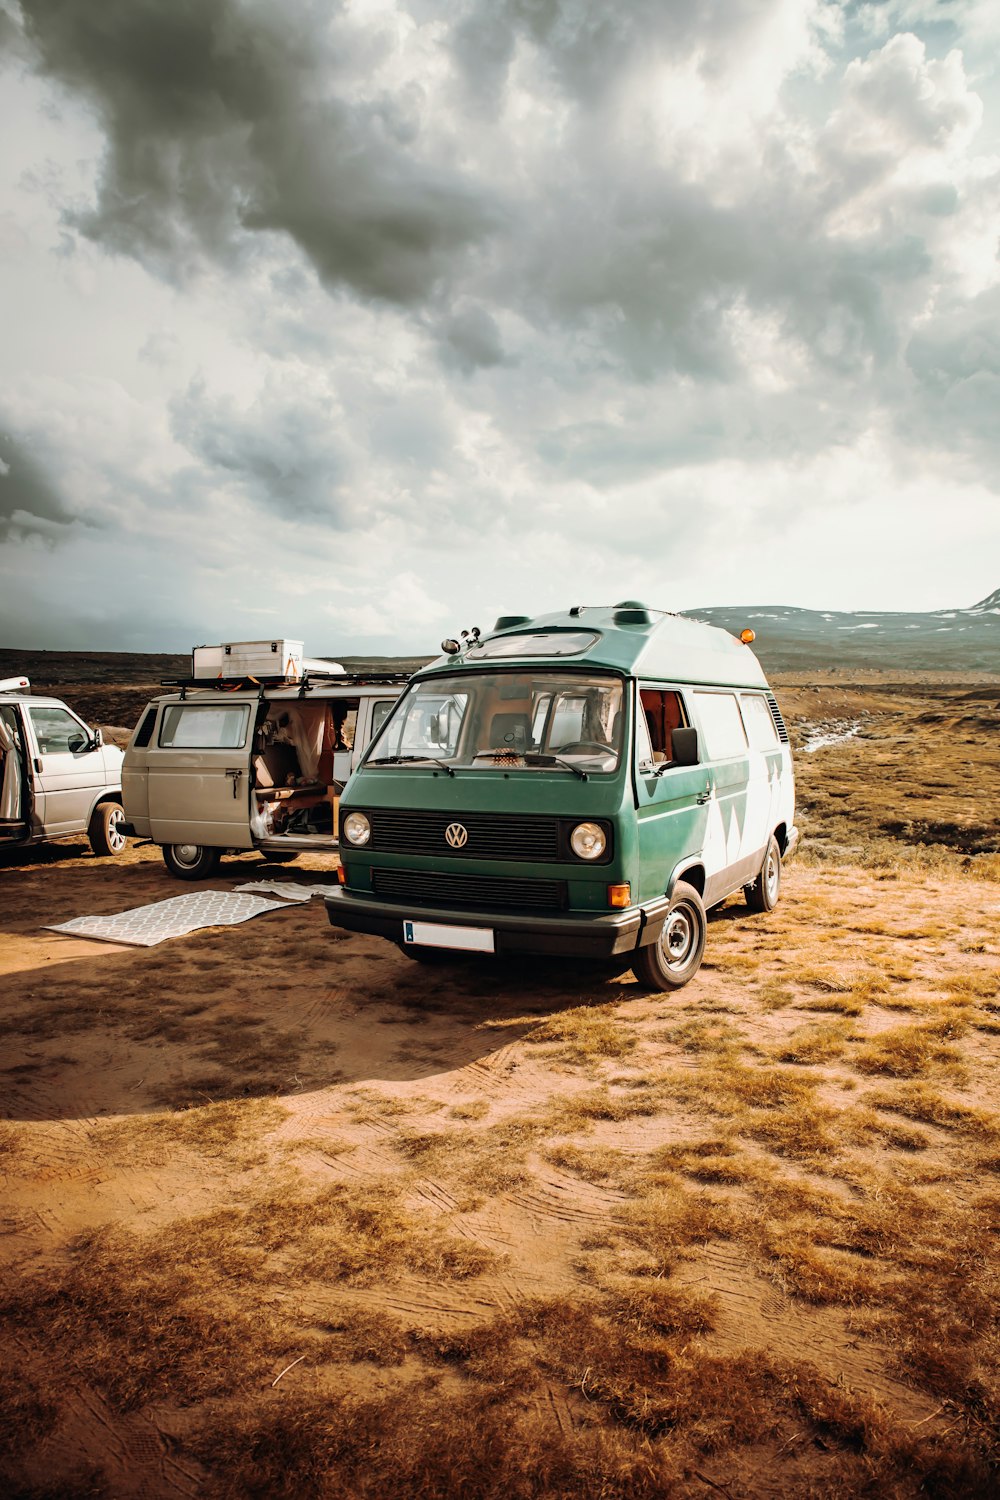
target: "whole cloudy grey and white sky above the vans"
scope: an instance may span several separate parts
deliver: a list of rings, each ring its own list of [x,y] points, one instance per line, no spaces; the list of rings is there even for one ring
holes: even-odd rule
[[[996,0],[0,0],[0,640],[1000,584]]]

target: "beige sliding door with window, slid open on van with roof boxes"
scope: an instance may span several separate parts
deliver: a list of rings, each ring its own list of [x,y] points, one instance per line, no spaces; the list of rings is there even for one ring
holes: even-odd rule
[[[250,752],[256,694],[166,704],[145,752],[156,843],[252,849]]]

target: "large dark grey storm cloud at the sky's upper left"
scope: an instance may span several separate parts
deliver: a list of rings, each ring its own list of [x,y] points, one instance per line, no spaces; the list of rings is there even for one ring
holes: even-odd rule
[[[489,224],[460,174],[421,160],[420,99],[337,81],[384,42],[321,4],[24,0],[42,72],[106,132],[96,202],[69,220],[168,276],[288,234],[330,286],[411,303]],[[333,90],[330,84],[333,82]]]

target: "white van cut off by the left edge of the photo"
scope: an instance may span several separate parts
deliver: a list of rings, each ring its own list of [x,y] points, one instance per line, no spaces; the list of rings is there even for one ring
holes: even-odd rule
[[[87,834],[97,855],[126,848],[121,752],[27,676],[0,682],[0,849]]]

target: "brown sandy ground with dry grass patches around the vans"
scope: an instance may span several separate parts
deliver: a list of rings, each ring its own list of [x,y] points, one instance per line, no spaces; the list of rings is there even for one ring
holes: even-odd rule
[[[996,1492],[996,698],[907,692],[799,758],[781,904],[676,996],[319,903],[81,942],[186,886],[0,856],[3,1494]]]

